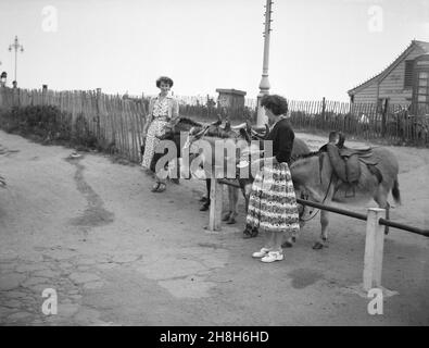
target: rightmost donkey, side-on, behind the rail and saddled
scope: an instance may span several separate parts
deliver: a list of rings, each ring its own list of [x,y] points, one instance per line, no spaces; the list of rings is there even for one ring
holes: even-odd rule
[[[401,203],[399,163],[395,156],[382,147],[371,148],[369,159],[375,164],[358,161],[361,175],[355,184],[349,184],[336,174],[328,152],[319,150],[301,156],[290,166],[293,185],[319,203],[335,201],[365,204],[374,199],[380,208],[386,209],[386,217],[389,219],[389,192],[392,192],[396,203]],[[325,210],[320,211],[320,225],[319,240],[313,245],[315,250],[324,248],[328,240],[329,214]]]

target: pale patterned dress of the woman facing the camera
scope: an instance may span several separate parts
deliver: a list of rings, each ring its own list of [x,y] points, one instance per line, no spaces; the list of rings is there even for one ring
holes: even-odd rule
[[[157,97],[152,111],[152,122],[148,128],[148,135],[144,144],[144,153],[141,165],[146,169],[151,169],[153,156],[155,153],[156,146],[160,144],[160,139],[156,135],[161,135],[165,125],[167,124],[168,117],[168,99],[164,98],[160,100]]]

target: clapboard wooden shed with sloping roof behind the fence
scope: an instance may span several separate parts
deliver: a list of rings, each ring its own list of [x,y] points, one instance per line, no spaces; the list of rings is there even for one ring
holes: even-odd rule
[[[429,42],[413,40],[381,73],[348,91],[354,104],[429,105]]]

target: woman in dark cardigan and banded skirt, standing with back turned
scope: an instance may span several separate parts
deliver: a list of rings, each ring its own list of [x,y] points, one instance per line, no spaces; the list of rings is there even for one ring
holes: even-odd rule
[[[283,260],[281,244],[285,233],[296,235],[300,229],[296,198],[289,171],[294,133],[288,117],[288,102],[272,95],[261,100],[266,115],[275,124],[268,135],[273,141],[273,156],[256,160],[261,166],[255,175],[249,199],[247,224],[265,234],[265,245],[253,253],[263,262]]]

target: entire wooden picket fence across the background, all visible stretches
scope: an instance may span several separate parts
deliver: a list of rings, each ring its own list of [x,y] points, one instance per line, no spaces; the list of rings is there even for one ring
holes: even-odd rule
[[[222,114],[230,120],[256,121],[256,102],[241,109],[219,109],[214,98],[180,97],[180,115],[209,121]],[[252,100],[250,100],[252,101]],[[429,146],[429,108],[411,112],[404,105],[351,104],[349,102],[288,100],[296,130],[341,130],[351,138],[381,140],[390,145]],[[0,109],[55,105],[72,124],[84,116],[89,129],[109,148],[133,162],[141,161],[140,146],[149,98],[112,96],[100,90],[53,91],[0,87]],[[70,120],[67,120],[70,121]]]

